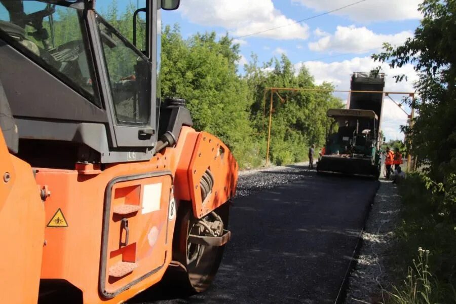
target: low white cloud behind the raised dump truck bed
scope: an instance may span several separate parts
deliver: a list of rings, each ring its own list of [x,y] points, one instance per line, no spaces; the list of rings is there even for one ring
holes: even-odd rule
[[[382,66],[385,72],[385,91],[388,92],[414,92],[413,82],[418,79],[416,72],[413,70],[413,65],[406,64],[401,68],[391,69],[387,64],[379,64],[374,62],[370,57],[355,57],[351,60],[326,63],[322,61],[306,61],[295,64],[298,71],[302,66],[309,69],[311,75],[314,76],[316,83],[323,82],[332,83],[337,90],[350,90],[350,75],[355,71],[370,71],[379,65]],[[406,74],[407,82],[396,83],[393,79],[394,75]],[[347,93],[337,94],[338,97],[347,98]],[[391,95],[396,101],[400,101],[401,95]],[[404,108],[407,112],[409,108]],[[400,126],[406,125],[407,115],[391,101],[385,98],[382,129],[385,132],[387,139],[403,139],[404,135],[400,133]]]

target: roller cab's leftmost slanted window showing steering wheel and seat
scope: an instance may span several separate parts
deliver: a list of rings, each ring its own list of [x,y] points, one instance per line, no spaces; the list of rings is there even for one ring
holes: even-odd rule
[[[0,37],[98,106],[82,12],[40,1],[0,0]]]

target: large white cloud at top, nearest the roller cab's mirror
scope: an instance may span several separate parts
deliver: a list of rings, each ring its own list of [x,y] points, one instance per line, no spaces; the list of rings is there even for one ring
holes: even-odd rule
[[[295,20],[287,18],[274,7],[272,0],[186,0],[182,1],[180,11],[182,16],[191,22],[206,26],[221,26],[230,30],[234,36],[282,26],[256,36],[277,40],[309,37],[309,26],[295,23]]]

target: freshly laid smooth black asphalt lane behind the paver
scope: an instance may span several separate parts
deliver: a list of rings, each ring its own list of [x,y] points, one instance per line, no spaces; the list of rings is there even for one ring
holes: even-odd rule
[[[128,303],[334,303],[378,181],[304,167],[257,174],[292,181],[234,200],[232,240],[210,289],[180,299],[153,287]]]

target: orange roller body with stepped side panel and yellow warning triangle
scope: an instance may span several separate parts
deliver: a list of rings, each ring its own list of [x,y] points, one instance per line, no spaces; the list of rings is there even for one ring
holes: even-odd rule
[[[52,194],[40,226],[42,279],[68,281],[85,303],[122,302],[160,281],[172,260],[179,205],[192,204],[202,217],[226,203],[237,182],[232,154],[208,133],[183,127],[176,146],[161,152],[104,170],[36,168],[36,182]],[[199,180],[208,168],[215,182],[203,202]]]

